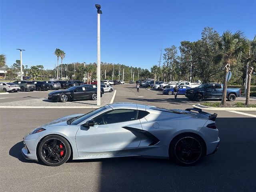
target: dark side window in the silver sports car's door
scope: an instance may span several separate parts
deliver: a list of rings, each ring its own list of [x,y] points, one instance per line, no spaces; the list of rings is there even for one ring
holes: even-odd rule
[[[105,114],[101,114],[94,118],[95,125],[120,123],[126,121],[132,121],[137,119],[137,110],[131,109],[116,109]]]

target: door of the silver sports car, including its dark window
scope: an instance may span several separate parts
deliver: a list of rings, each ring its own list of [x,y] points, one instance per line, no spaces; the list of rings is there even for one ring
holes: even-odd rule
[[[136,149],[142,138],[137,110],[116,109],[93,118],[94,126],[78,129],[76,145],[79,156],[122,156]]]

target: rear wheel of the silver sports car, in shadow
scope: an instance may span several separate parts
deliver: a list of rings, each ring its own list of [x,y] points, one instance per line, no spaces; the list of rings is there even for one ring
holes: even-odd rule
[[[196,134],[185,133],[176,136],[169,147],[169,156],[182,166],[193,166],[206,154],[205,143]]]

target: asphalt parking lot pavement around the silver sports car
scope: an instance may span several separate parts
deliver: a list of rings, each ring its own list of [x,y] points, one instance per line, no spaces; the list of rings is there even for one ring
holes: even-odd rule
[[[114,102],[186,109],[198,103],[185,96],[174,100],[173,95],[145,88],[140,88],[137,93],[135,84],[118,85],[114,89],[116,93],[103,94],[102,104],[114,99]],[[110,158],[76,160],[49,167],[22,157],[23,136],[35,127],[62,116],[92,110],[80,108],[82,106],[96,106],[96,101],[88,100],[78,103],[48,102],[49,92],[0,95],[1,107],[13,107],[0,108],[1,191],[255,191],[256,111],[205,110],[218,114],[216,124],[220,131],[220,145],[215,154],[206,156],[196,166],[182,167],[161,159]],[[235,102],[244,101],[245,98],[237,98]],[[251,99],[251,102],[256,103],[256,99]],[[63,108],[56,108],[56,104]],[[71,106],[74,108],[68,108]]]

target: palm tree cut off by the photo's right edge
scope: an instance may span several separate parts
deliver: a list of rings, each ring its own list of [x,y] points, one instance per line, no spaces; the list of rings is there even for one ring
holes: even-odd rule
[[[245,63],[248,63],[248,77],[247,77],[247,91],[246,91],[246,101],[245,104],[250,104],[250,87],[251,87],[251,78],[252,72],[254,68],[256,68],[256,35],[254,39],[249,42],[250,49],[246,54],[246,59],[244,60]]]

